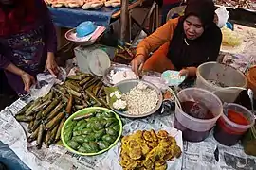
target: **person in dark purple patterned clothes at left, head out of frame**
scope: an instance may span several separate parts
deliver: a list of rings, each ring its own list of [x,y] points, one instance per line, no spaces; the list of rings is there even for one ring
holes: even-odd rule
[[[58,74],[57,37],[43,0],[0,0],[0,69],[18,94],[27,93],[35,76]]]

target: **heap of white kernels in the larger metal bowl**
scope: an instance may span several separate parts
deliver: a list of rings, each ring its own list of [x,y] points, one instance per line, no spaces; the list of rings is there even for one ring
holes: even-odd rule
[[[134,115],[154,110],[159,101],[155,89],[151,89],[143,82],[139,82],[128,93],[123,93],[121,99],[127,103],[127,113]]]

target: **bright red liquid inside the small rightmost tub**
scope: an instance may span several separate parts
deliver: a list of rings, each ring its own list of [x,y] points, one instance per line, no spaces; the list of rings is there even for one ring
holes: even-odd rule
[[[235,112],[234,110],[228,110],[228,118],[238,125],[249,125],[247,118],[242,113]],[[220,144],[231,146],[237,144],[245,132],[245,130],[239,128],[229,127],[221,117],[217,122],[217,126],[214,128],[213,135]]]

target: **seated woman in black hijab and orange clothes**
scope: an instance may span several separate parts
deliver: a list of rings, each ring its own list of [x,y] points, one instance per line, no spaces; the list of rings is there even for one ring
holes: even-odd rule
[[[214,9],[212,0],[190,0],[184,16],[169,20],[137,45],[133,70],[137,73],[143,65],[143,70],[178,70],[180,75],[195,76],[198,65],[215,61],[222,33],[213,23]]]

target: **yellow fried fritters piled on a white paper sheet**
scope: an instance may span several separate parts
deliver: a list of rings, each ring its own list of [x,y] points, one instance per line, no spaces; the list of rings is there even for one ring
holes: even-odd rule
[[[160,122],[157,120],[155,124],[163,123]],[[181,169],[183,142],[180,130],[133,121],[123,127],[122,135],[120,142],[101,160],[99,170],[112,167],[115,170]]]

